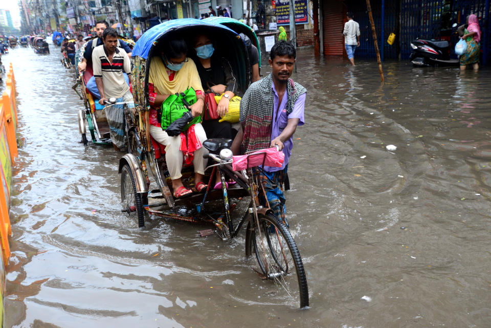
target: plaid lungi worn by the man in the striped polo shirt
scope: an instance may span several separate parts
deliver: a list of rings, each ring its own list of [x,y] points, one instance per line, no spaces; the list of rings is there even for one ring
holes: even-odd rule
[[[133,103],[133,95],[131,92],[127,92],[121,98],[117,98],[116,102],[127,102],[126,108],[134,108],[135,103]],[[111,141],[116,147],[121,148],[124,146],[124,106],[125,105],[112,105],[105,108],[107,124],[109,124],[109,135],[111,136]]]

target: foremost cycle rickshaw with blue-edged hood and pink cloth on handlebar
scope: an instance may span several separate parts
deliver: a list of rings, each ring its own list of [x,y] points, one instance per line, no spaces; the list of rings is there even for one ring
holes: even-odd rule
[[[230,28],[212,21],[183,18],[166,21],[146,31],[136,42],[131,58],[137,134],[131,141],[136,145],[135,150],[124,155],[119,163],[122,210],[140,228],[145,226],[146,216],[149,220],[150,215],[154,215],[209,224],[213,229],[200,231],[200,234],[207,236],[216,233],[222,240],[233,239],[242,227],[247,227],[245,255],[253,263],[253,271],[264,281],[259,288],[269,297],[281,299],[282,303],[286,298],[290,304],[308,307],[307,279],[295,241],[267,201],[260,201],[260,195],[263,200],[265,195],[258,178],[261,168],[252,159],[255,156],[262,164],[267,163],[272,156],[271,148],[245,155],[242,160],[245,160],[247,167],[234,169],[236,162],[230,150],[232,140],[206,140],[203,146],[208,149],[207,158],[211,162],[205,170],[204,181],[208,182],[206,192],[174,198],[165,164],[164,146],[150,136],[149,122],[145,121],[145,112],[149,110],[148,68],[151,58],[160,56],[157,45],[177,35],[189,42],[194,40],[196,34],[203,32],[218,36],[214,38],[215,51],[231,63],[239,89],[245,91],[250,84],[249,58],[244,42]],[[277,149],[274,149],[274,153],[282,154]],[[184,166],[182,174],[185,187],[193,186],[192,168]],[[221,179],[219,189],[210,188],[214,185],[214,174],[219,174]],[[226,175],[236,184],[228,186]],[[234,211],[245,207],[245,213]]]

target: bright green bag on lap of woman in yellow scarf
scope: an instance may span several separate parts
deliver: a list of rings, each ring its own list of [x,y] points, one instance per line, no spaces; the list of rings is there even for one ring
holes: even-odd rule
[[[188,108],[184,105],[185,102],[189,104],[189,107],[196,102],[196,92],[193,88],[187,89],[180,94],[170,95],[162,103],[162,117],[161,126],[165,130],[170,123],[174,122],[178,118],[183,117],[183,114],[188,111]],[[201,122],[201,116],[195,117],[188,125],[183,128],[186,131],[191,125]]]

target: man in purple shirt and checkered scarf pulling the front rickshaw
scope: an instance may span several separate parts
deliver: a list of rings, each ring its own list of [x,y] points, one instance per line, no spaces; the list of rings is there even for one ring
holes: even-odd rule
[[[239,154],[278,146],[285,160],[281,167],[265,166],[260,178],[266,191],[267,203],[277,217],[288,225],[285,218],[283,183],[288,161],[292,155],[293,134],[304,124],[306,90],[289,77],[295,58],[292,42],[279,41],[270,52],[271,74],[249,86],[240,101],[241,128],[234,139],[232,150]],[[263,204],[264,206],[264,204]]]

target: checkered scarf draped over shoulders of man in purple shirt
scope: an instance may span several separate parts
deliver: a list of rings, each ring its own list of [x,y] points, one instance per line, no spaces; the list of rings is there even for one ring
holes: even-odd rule
[[[272,85],[273,75],[269,74],[262,80],[251,84],[240,101],[240,122],[242,122],[244,133],[241,146],[244,152],[267,148],[271,145],[275,102]],[[286,114],[290,114],[298,97],[307,91],[292,79],[288,79],[286,89]]]

